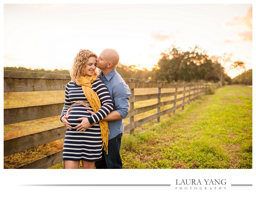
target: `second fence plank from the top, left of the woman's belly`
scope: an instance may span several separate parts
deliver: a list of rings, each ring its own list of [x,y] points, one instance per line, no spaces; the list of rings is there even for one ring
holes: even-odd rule
[[[62,112],[63,105],[64,102],[4,109],[4,125],[58,116]]]

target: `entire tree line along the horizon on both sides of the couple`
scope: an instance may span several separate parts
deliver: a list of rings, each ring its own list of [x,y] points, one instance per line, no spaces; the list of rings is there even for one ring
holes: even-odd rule
[[[231,54],[209,57],[207,52],[195,46],[187,51],[172,46],[161,53],[162,58],[149,71],[137,69],[136,65],[126,66],[121,63],[116,71],[123,78],[160,80],[173,82],[219,82],[223,84],[252,84],[252,69],[245,71],[242,61],[231,61]],[[233,80],[227,75],[222,64],[231,63],[229,69],[244,69],[244,73]],[[70,78],[68,70],[27,69],[25,67],[4,67],[5,77],[24,78]]]

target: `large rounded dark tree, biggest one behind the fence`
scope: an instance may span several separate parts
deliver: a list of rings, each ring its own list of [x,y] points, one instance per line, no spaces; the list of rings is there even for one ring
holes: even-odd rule
[[[207,74],[213,69],[211,59],[198,46],[186,52],[172,46],[172,49],[167,49],[161,55],[162,59],[158,61],[158,70],[154,76],[158,80],[168,82],[207,80]]]

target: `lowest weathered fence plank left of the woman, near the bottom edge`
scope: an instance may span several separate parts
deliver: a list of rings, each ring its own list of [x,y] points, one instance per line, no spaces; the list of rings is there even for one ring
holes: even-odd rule
[[[22,165],[15,169],[47,169],[57,163],[62,162],[63,150],[45,156],[44,158],[38,159],[34,162],[30,162],[26,165]]]

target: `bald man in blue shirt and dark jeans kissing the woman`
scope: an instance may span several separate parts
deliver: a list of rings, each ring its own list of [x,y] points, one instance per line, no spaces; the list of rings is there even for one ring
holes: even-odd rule
[[[115,68],[118,63],[119,54],[114,49],[104,49],[96,59],[96,67],[101,69],[100,79],[106,85],[114,104],[114,110],[103,119],[103,121],[108,121],[108,129],[110,130],[108,154],[103,150],[102,160],[95,162],[96,169],[122,169],[123,167],[120,147],[124,129],[123,119],[128,114],[128,101],[131,92],[128,84],[116,72]],[[88,112],[94,114],[91,111]],[[82,120],[86,121],[84,118]],[[81,126],[84,124],[83,121]]]

